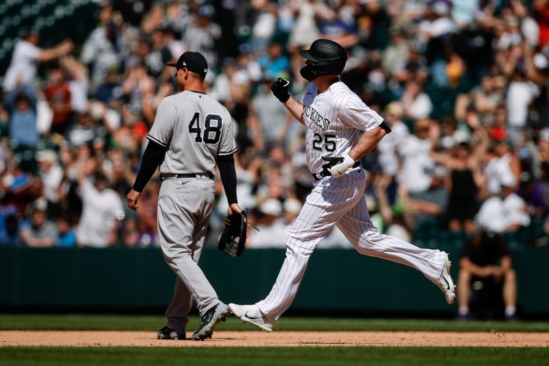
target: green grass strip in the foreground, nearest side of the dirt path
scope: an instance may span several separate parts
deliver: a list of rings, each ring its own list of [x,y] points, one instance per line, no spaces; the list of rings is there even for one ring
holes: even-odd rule
[[[547,365],[547,348],[500,347],[0,347],[8,365]]]

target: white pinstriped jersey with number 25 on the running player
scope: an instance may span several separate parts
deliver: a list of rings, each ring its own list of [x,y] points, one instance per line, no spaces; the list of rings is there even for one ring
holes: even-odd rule
[[[309,170],[318,174],[327,157],[340,157],[360,139],[360,131],[379,126],[383,118],[372,111],[343,82],[336,82],[318,94],[316,85],[309,83],[303,98],[305,152]]]

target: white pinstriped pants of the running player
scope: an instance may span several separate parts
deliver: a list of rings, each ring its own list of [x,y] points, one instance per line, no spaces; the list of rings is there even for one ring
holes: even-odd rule
[[[278,319],[290,307],[309,256],[334,225],[359,253],[406,264],[435,284],[439,281],[444,253],[436,249],[421,249],[379,233],[368,214],[365,189],[366,173],[361,167],[339,178],[325,177],[315,183],[288,233],[286,257],[277,281],[266,299],[256,304],[266,317]]]

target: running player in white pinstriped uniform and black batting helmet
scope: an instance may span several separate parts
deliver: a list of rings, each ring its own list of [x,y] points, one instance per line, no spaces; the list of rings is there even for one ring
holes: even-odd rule
[[[319,39],[300,54],[306,59],[301,76],[310,82],[303,104],[288,94],[288,80],[279,79],[271,89],[307,128],[305,150],[314,188],[288,233],[286,257],[269,295],[253,305],[229,304],[231,312],[271,331],[292,304],[316,244],[334,225],[359,253],[421,271],[438,284],[452,304],[456,295],[447,254],[383,235],[369,218],[364,198],[366,173],[359,161],[390,133],[390,128],[340,82],[338,75],[347,62],[345,50],[334,41]]]

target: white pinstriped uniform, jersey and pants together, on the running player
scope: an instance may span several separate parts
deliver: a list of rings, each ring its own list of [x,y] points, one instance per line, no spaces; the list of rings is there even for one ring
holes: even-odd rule
[[[302,119],[307,127],[307,164],[314,174],[318,174],[325,163],[321,157],[340,157],[358,143],[361,130],[369,131],[382,123],[382,117],[368,108],[342,82],[331,84],[327,91],[320,94],[313,83],[309,84],[303,105]],[[436,249],[421,249],[377,232],[368,214],[364,190],[366,173],[363,169],[351,169],[336,179],[320,179],[314,183],[288,232],[286,256],[277,282],[265,299],[255,303],[264,323],[272,327],[274,321],[290,307],[310,255],[334,225],[359,253],[412,266],[439,284],[446,265],[445,253]],[[452,279],[448,282],[444,277],[444,281],[443,291],[445,294],[447,290],[451,293]],[[451,295],[455,296],[454,293]],[[253,314],[255,316],[256,313]],[[240,319],[247,321],[243,317]]]

